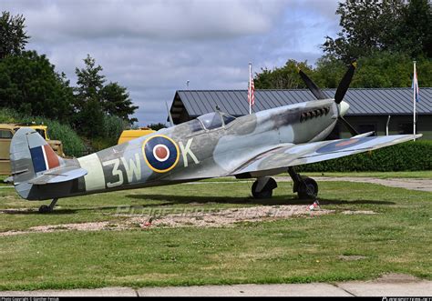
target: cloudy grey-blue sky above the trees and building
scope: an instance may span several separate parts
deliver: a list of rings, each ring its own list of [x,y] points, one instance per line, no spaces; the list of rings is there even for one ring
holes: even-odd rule
[[[87,54],[128,88],[139,125],[165,123],[186,89],[247,89],[254,72],[289,58],[311,65],[339,31],[337,0],[1,0],[26,17],[27,49],[76,85]]]

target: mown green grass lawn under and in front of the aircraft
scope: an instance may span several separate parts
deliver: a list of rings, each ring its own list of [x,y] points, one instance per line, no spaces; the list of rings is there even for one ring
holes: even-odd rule
[[[325,175],[326,176],[326,175]],[[116,221],[121,205],[212,208],[301,203],[291,183],[273,199],[249,198],[251,182],[153,187],[60,199],[54,214],[0,213],[0,232]],[[220,228],[150,227],[0,236],[0,289],[306,283],[406,273],[432,279],[432,193],[363,183],[320,183],[327,216]],[[0,210],[36,208],[0,189]],[[345,215],[369,210],[375,215]],[[358,256],[358,257],[356,257]],[[355,258],[358,260],[350,260]]]

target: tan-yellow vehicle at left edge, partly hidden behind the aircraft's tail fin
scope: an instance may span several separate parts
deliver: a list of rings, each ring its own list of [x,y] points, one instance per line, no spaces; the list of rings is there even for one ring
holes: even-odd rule
[[[63,153],[63,144],[59,140],[50,140],[47,134],[46,125],[34,124],[0,124],[0,175],[9,175],[11,166],[9,162],[9,147],[11,145],[12,136],[20,127],[31,127],[37,133],[42,135],[51,148],[58,156],[65,156]]]

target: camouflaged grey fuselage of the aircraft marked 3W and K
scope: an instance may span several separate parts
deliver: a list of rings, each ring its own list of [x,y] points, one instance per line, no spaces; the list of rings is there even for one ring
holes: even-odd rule
[[[95,154],[64,160],[65,166],[81,167],[87,175],[18,193],[28,200],[43,200],[233,175],[250,158],[277,145],[323,140],[333,130],[337,116],[345,114],[344,105],[335,104],[334,99],[314,100],[235,119],[215,112],[210,116],[226,119],[227,124],[207,129],[194,119]],[[281,171],[286,168],[250,176]]]

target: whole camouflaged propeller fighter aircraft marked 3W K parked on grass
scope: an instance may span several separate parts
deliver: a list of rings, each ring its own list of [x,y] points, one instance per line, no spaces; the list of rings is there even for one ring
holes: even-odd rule
[[[27,200],[52,199],[39,212],[52,211],[59,198],[123,189],[163,186],[211,177],[256,178],[252,196],[269,198],[277,187],[270,177],[288,171],[293,192],[314,198],[314,179],[300,176],[294,166],[350,156],[412,140],[414,135],[358,134],[344,115],[343,101],[355,64],[350,65],[334,98],[329,98],[299,70],[317,98],[235,118],[216,110],[189,122],[115,145],[98,153],[65,159],[31,128],[19,129],[10,157],[16,192]],[[324,141],[343,123],[348,139]],[[421,135],[416,135],[420,137]]]

